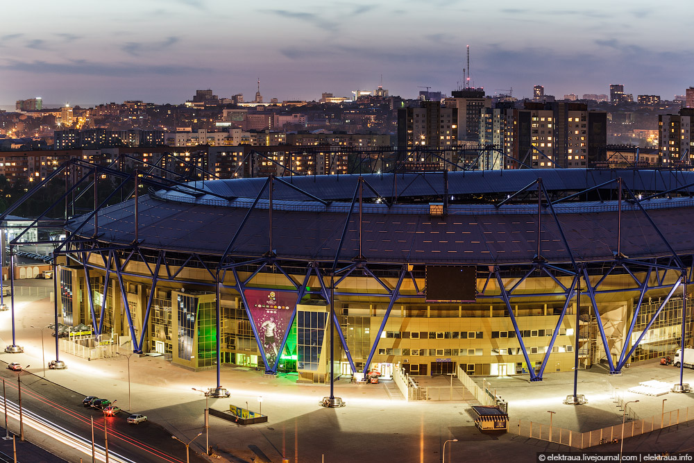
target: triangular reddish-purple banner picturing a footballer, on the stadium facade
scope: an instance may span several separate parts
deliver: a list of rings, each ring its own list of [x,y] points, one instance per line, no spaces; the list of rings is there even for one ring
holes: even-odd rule
[[[265,358],[271,366],[280,353],[280,344],[289,329],[289,319],[296,308],[296,294],[246,289],[244,295]]]

